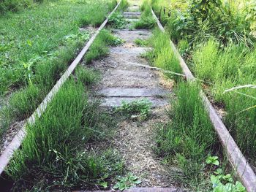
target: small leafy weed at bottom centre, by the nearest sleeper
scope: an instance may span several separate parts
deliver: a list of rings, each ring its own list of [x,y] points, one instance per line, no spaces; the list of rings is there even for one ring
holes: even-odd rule
[[[117,180],[118,182],[113,186],[113,188],[121,191],[135,187],[135,185],[141,183],[141,181],[138,180],[138,177],[131,173],[129,173],[127,177],[118,177]]]

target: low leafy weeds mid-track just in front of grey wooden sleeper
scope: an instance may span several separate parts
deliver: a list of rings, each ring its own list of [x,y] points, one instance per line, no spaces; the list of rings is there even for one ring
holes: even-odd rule
[[[148,118],[151,108],[151,102],[148,99],[139,99],[134,101],[122,101],[121,107],[116,108],[116,112],[124,115],[140,115],[140,120]]]

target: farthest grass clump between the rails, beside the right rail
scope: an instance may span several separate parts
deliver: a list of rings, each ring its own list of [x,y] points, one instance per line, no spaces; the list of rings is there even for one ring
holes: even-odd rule
[[[149,6],[148,1],[143,3],[143,12],[141,14],[140,20],[133,24],[133,28],[136,29],[150,29],[154,28],[156,25],[156,20],[154,20],[153,15],[151,14],[151,7]]]

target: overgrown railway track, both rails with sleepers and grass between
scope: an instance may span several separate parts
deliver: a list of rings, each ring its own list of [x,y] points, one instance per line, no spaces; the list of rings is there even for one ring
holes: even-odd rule
[[[2,153],[12,191],[254,191],[255,174],[203,91],[182,79],[195,77],[149,1],[129,3],[118,3]]]

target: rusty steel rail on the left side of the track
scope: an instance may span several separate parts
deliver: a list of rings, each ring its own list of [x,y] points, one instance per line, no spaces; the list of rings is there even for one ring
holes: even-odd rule
[[[122,1],[122,0],[121,0]],[[86,54],[86,52],[89,50],[89,47],[91,47],[92,43],[98,36],[99,32],[102,30],[102,28],[105,27],[105,25],[108,23],[108,20],[111,15],[113,15],[114,12],[116,12],[116,9],[119,7],[121,1],[118,2],[116,7],[113,9],[112,12],[108,15],[108,17],[105,19],[105,21],[102,23],[101,26],[97,29],[97,31],[94,33],[94,35],[89,39],[89,42],[86,43],[85,47],[83,47],[83,50],[80,51],[78,56],[75,58],[75,60],[72,62],[72,64],[69,66],[66,72],[61,76],[58,82],[56,82],[56,85],[51,89],[51,91],[48,93],[48,95],[45,97],[45,99],[42,101],[41,104],[39,104],[39,107],[37,107],[37,110],[34,111],[34,113],[26,120],[25,125],[18,131],[18,134],[15,135],[15,137],[12,139],[12,142],[7,146],[7,148],[4,150],[4,152],[0,156],[0,174],[4,172],[5,167],[9,164],[13,153],[15,153],[15,150],[18,150],[21,143],[23,142],[23,139],[26,138],[26,125],[29,123],[30,125],[33,125],[37,118],[40,118],[42,114],[45,112],[46,108],[48,107],[48,104],[50,101],[53,100],[53,97],[58,93],[61,86],[64,84],[64,82],[67,81],[70,74],[74,72],[75,67],[78,66],[80,61],[83,59],[83,56]]]

